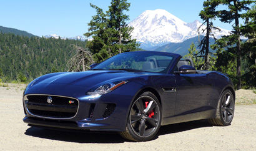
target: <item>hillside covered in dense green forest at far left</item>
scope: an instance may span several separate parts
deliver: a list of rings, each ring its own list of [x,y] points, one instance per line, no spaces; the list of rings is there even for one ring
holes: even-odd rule
[[[0,33],[0,79],[12,81],[21,74],[32,80],[52,71],[67,71],[71,44],[85,47],[86,42]]]

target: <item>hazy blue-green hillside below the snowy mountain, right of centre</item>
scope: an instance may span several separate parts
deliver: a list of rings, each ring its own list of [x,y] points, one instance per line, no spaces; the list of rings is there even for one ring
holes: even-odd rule
[[[188,49],[190,48],[190,44],[192,44],[192,42],[194,42],[195,46],[200,44],[198,37],[193,37],[180,43],[170,42],[169,44],[159,47],[154,51],[172,52],[185,56],[189,52]],[[210,44],[214,44],[214,39],[210,38]],[[197,47],[197,49],[199,49],[199,47]]]

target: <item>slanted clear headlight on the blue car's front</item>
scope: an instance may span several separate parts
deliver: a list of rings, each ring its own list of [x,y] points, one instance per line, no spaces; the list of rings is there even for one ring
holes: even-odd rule
[[[99,87],[95,87],[94,89],[91,89],[87,92],[87,95],[102,95],[107,94],[111,92],[114,89],[117,89],[117,87],[120,87],[121,85],[126,84],[127,80],[119,80],[115,82],[109,82],[106,84],[102,84]]]

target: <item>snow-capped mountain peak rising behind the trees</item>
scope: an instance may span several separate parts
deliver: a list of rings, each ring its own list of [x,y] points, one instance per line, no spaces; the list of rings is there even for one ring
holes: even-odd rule
[[[163,9],[144,11],[128,24],[134,27],[132,38],[143,47],[163,46],[169,42],[183,42],[198,36],[199,21],[186,23]],[[205,28],[203,26],[202,28]],[[230,31],[215,31],[215,37],[228,35]]]

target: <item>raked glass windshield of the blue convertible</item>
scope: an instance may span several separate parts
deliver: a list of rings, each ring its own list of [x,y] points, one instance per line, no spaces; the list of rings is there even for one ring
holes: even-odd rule
[[[172,54],[127,52],[102,62],[92,70],[126,70],[167,73],[174,60]]]

